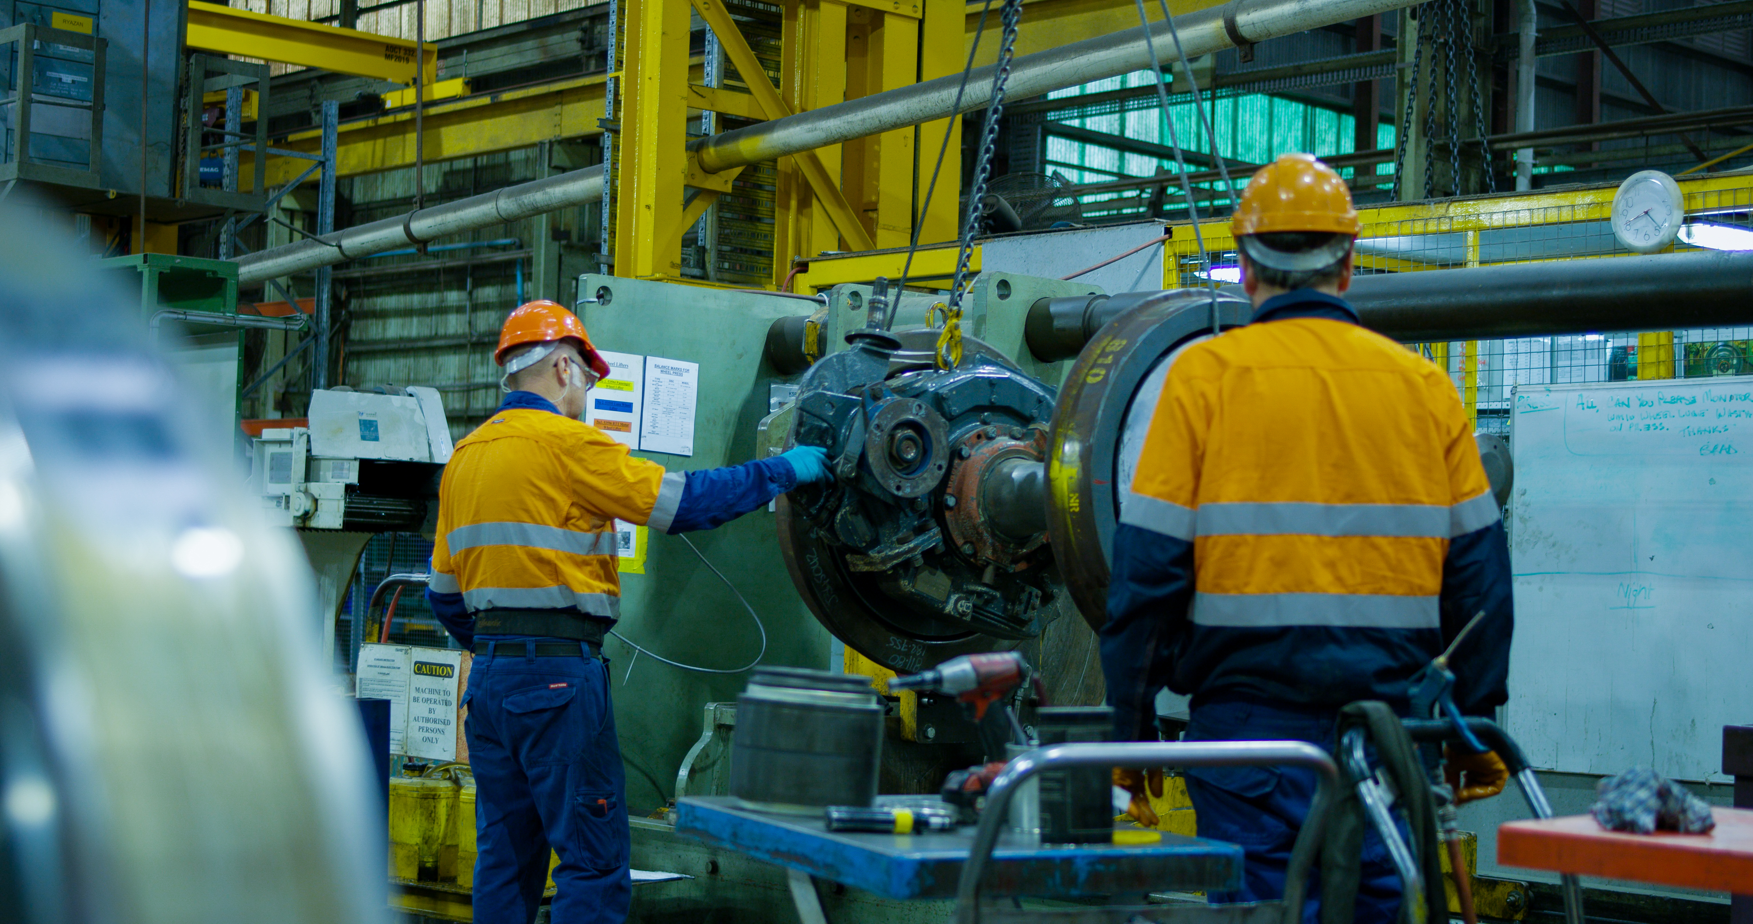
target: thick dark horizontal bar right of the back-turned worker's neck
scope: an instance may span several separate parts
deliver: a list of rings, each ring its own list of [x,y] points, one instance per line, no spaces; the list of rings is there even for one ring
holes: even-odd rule
[[[1359,275],[1364,326],[1401,342],[1753,323],[1753,251]]]

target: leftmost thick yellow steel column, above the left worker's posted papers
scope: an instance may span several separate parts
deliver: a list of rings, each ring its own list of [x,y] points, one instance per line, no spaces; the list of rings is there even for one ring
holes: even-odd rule
[[[628,0],[615,275],[682,274],[691,18],[687,0]]]

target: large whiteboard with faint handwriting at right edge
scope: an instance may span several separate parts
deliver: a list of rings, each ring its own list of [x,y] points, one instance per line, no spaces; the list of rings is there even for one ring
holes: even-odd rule
[[[1518,386],[1511,451],[1509,733],[1720,778],[1753,722],[1753,377]]]

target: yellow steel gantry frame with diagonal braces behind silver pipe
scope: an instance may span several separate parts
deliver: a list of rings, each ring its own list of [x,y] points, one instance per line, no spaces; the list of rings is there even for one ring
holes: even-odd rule
[[[608,81],[603,107],[612,135],[603,144],[605,182],[615,186],[614,198],[605,195],[603,202],[617,275],[689,281],[682,277],[682,237],[733,189],[742,170],[710,174],[698,167],[685,149],[691,110],[780,119],[954,74],[966,60],[966,11],[952,0],[792,0],[782,11],[782,81],[775,86],[722,0],[626,0],[626,12],[617,9],[610,54],[619,49],[622,65]],[[722,86],[715,68],[710,77],[692,77],[682,26],[691,12],[706,23],[713,51],[736,68],[747,93]],[[934,153],[945,131],[957,156],[947,158],[938,184],[959,189],[959,119],[780,158],[770,284],[785,279],[794,258],[905,245],[915,221],[926,226],[927,240],[954,237],[954,193],[919,212],[931,161],[917,158],[915,147]]]

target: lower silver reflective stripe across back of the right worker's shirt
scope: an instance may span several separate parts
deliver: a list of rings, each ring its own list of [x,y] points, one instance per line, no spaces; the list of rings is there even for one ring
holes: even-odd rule
[[[1236,629],[1334,626],[1436,629],[1436,596],[1392,594],[1194,594],[1194,624]]]

